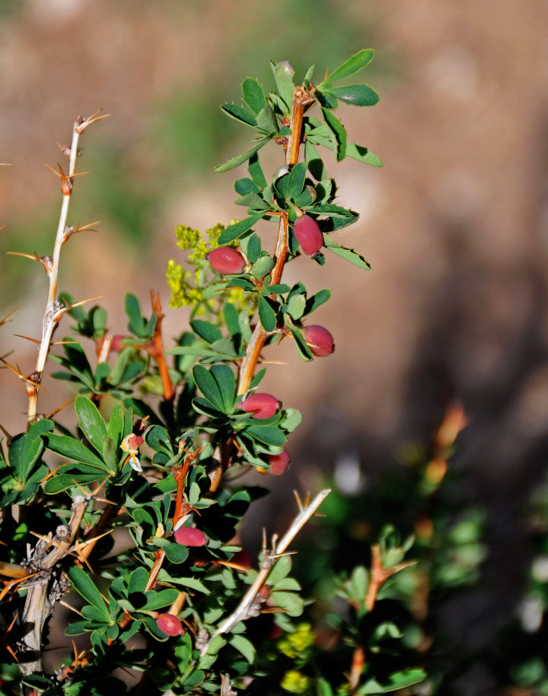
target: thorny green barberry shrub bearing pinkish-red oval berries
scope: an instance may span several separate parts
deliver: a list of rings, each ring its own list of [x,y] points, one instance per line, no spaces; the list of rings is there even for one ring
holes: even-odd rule
[[[102,116],[76,120],[72,143],[63,148],[69,162],[67,173],[60,168],[54,252],[21,254],[39,262],[49,280],[36,367],[22,374],[3,358],[24,382],[29,411],[24,432],[6,435],[0,459],[8,665],[2,693],[18,693],[20,683],[24,694],[48,696],[128,690],[228,696],[275,691],[281,683],[292,693],[329,696],[413,689],[423,678],[397,660],[373,674],[366,659],[368,646],[392,629],[365,617],[385,581],[407,567],[410,540],[400,544],[384,533],[371,572],[358,562],[341,589],[357,621],[340,617],[348,660],[338,664],[336,677],[321,661],[299,671],[317,636],[296,621],[305,601],[289,555],[329,489],[313,500],[297,495],[288,530],[271,541],[263,535],[255,560],[237,541],[250,503],[266,492],[246,484],[244,475],[253,468],[283,475],[288,437],[301,422],[282,394],[260,391],[263,351],[281,339],[292,341],[305,362],[334,350],[329,330],[311,324],[331,291],[284,283],[285,264],[303,253],[323,272],[334,253],[369,268],[335,239],[358,214],[336,202],[320,152],[381,166],[367,148],[347,140],[334,113],[339,102],[377,102],[368,85],[341,84],[372,58],[372,50],[362,50],[319,84],[312,67],[297,86],[289,63],[272,64],[272,92],[247,78],[244,106],[221,107],[255,135],[247,152],[217,168],[247,164],[248,175],[235,182],[236,203],[246,214],[205,235],[184,225],[175,230],[187,258],[168,264],[170,304],[191,306],[191,317],[173,347],[164,346],[164,314],[154,292],[148,316],[127,294],[127,330],[114,335],[100,306],[87,310],[88,301],[58,294],[61,248],[86,229],[67,218],[79,137]],[[267,145],[280,154],[279,168],[268,176],[259,157]],[[65,314],[72,335],[61,342],[61,354],[50,354]],[[54,377],[77,393],[72,428],[58,423],[56,413],[38,411],[47,356],[60,365]],[[65,634],[64,655],[52,669],[44,663],[48,624],[57,656],[61,628]],[[283,674],[268,658],[276,640],[292,660]]]

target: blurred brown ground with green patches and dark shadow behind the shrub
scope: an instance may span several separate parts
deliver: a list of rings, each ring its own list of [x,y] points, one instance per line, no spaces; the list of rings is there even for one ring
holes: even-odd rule
[[[180,260],[173,228],[242,216],[234,173],[212,170],[249,132],[218,104],[239,103],[248,75],[270,88],[269,60],[290,61],[296,79],[315,63],[318,78],[375,48],[359,78],[381,101],[338,116],[385,167],[329,160],[340,200],[361,216],[338,240],[373,270],[332,255],[324,269],[308,259],[288,268],[311,290],[333,287],[317,319],[337,348],[306,365],[292,346],[272,358],[288,365],[273,365],[265,387],[304,413],[293,480],[275,484],[286,500],[296,481],[317,487],[311,470],[336,469],[357,490],[390,457],[428,445],[447,404],[462,402],[469,427],[455,466],[489,512],[492,592],[480,612],[457,613],[479,642],[521,581],[520,510],[548,451],[547,36],[544,0],[0,0],[0,161],[13,165],[0,167],[0,248],[51,253],[61,196],[44,163],[63,161],[56,143],[70,140],[77,114],[111,113],[81,141],[89,173],[69,215],[100,220],[99,232],[63,248],[60,289],[104,294],[113,333],[125,330],[124,293],[146,307],[150,288],[162,294],[166,337],[180,333],[185,311],[167,309],[164,280],[168,258]],[[6,256],[0,284],[1,316],[19,307],[1,352],[30,372],[35,351],[12,333],[38,337],[45,276]],[[44,386],[40,409],[53,410],[63,385]],[[2,425],[21,429],[22,386],[1,370],[0,388]]]

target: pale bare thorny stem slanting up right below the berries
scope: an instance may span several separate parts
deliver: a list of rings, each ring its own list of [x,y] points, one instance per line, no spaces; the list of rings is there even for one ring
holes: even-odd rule
[[[205,644],[203,644],[201,648],[201,655],[205,655],[207,653],[211,641],[213,640],[213,638],[215,638],[216,635],[221,635],[221,633],[229,633],[230,631],[232,631],[236,624],[240,623],[240,621],[245,621],[246,619],[249,619],[252,616],[258,616],[258,613],[260,613],[260,611],[257,608],[253,607],[253,603],[256,599],[256,596],[260,588],[263,587],[263,585],[267,581],[269,573],[272,570],[272,567],[274,567],[274,563],[276,562],[276,560],[278,560],[278,558],[281,555],[283,555],[283,553],[285,553],[285,550],[291,544],[293,539],[295,539],[302,527],[306,524],[306,522],[308,522],[311,516],[313,516],[313,514],[318,509],[318,507],[320,507],[325,498],[329,496],[329,493],[331,493],[331,489],[329,488],[320,491],[320,493],[318,493],[318,495],[314,498],[312,503],[310,503],[306,507],[302,507],[299,514],[292,521],[290,528],[287,530],[287,532],[285,532],[285,535],[283,535],[283,537],[279,541],[277,541],[276,536],[272,538],[272,548],[265,555],[263,565],[260,571],[258,572],[257,577],[253,581],[253,584],[249,587],[249,590],[247,590],[247,592],[244,594],[244,596],[242,597],[242,601],[240,601],[240,604],[237,606],[237,608],[212,633],[210,639],[207,642],[205,642]]]

